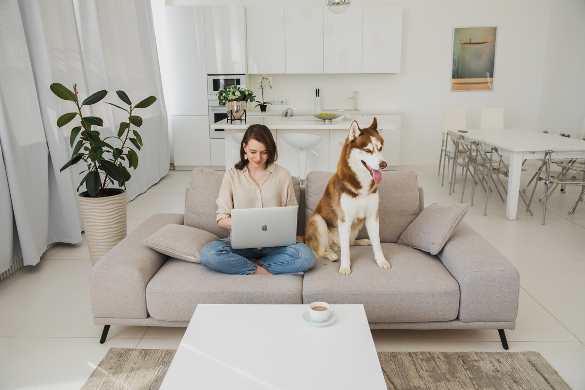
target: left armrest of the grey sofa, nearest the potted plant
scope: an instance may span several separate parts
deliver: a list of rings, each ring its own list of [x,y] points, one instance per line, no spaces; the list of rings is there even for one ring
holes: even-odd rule
[[[150,249],[142,240],[171,224],[183,225],[183,214],[153,215],[91,268],[90,295],[94,317],[148,317],[146,285],[168,256]]]

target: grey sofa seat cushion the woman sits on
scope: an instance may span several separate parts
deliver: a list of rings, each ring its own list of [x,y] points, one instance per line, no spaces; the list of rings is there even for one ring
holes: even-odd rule
[[[201,264],[168,258],[146,287],[157,320],[190,321],[199,303],[302,303],[302,275],[226,275]]]

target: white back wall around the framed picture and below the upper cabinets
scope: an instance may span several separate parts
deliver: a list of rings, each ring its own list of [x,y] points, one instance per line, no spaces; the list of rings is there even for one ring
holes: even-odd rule
[[[561,4],[562,2],[562,4]],[[321,4],[322,1],[298,0],[295,6]],[[557,5],[559,3],[559,5]],[[567,3],[565,5],[565,3]],[[166,0],[167,5],[211,4],[201,0]],[[243,4],[245,6],[285,6],[284,0],[216,0],[213,4]],[[549,20],[553,6],[553,26]],[[443,108],[467,108],[467,125],[479,127],[482,107],[503,107],[506,127],[540,129],[543,77],[551,84],[550,101],[562,97],[560,85],[554,85],[553,75],[559,64],[545,56],[547,43],[558,34],[579,34],[580,29],[563,24],[571,8],[583,5],[583,0],[496,0],[496,1],[359,1],[352,5],[402,5],[402,63],[399,74],[312,74],[272,75],[274,89],[265,94],[268,99],[288,99],[293,109],[312,109],[315,88],[321,89],[324,109],[352,108],[347,99],[359,91],[360,108],[400,109],[402,117],[401,164],[436,164],[441,144]],[[568,9],[568,11],[566,11]],[[557,13],[559,15],[557,15]],[[583,17],[574,16],[585,24]],[[573,23],[575,24],[575,23]],[[497,26],[494,91],[450,92],[453,27]],[[560,27],[563,27],[561,29]],[[564,28],[569,29],[565,32]],[[557,32],[556,29],[560,31]],[[580,33],[583,47],[584,35]],[[549,45],[551,46],[551,45]],[[267,48],[270,50],[270,48]],[[384,50],[383,47],[380,50]],[[561,49],[557,49],[562,51]],[[565,58],[569,58],[567,56]],[[583,61],[574,64],[583,67]],[[550,67],[550,70],[549,70]],[[549,77],[550,75],[550,77]],[[569,77],[569,76],[567,76]],[[581,76],[583,77],[583,76]],[[549,80],[550,78],[550,80]],[[248,87],[256,88],[257,75],[252,75]],[[581,97],[583,87],[579,87]],[[257,95],[260,91],[256,91]],[[581,102],[583,102],[581,100]],[[548,100],[545,101],[545,104]],[[273,108],[276,109],[276,108]],[[581,103],[581,110],[585,104]],[[583,123],[583,115],[574,114]],[[542,118],[542,121],[545,119]],[[545,125],[542,125],[545,126]]]

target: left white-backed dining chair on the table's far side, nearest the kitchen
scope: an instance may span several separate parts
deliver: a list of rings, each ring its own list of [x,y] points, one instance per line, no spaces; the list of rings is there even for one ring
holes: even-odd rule
[[[452,156],[450,150],[450,143],[455,142],[455,140],[450,139],[449,134],[447,133],[448,130],[467,130],[467,112],[464,108],[445,108],[443,110],[443,138],[441,143],[441,156],[439,156],[439,171],[437,175],[441,174],[441,162],[443,163],[443,177],[441,178],[441,185],[444,184],[445,181],[445,165],[447,165],[447,175],[452,170],[450,168],[451,161],[455,161],[455,165],[459,162],[461,165],[462,159],[467,157],[467,153],[461,147],[457,150],[456,156]],[[461,165],[463,166],[463,165]],[[455,167],[454,167],[455,168]],[[456,169],[453,170],[456,172]],[[455,177],[452,175],[452,178]],[[451,181],[449,180],[449,183]],[[450,195],[450,191],[449,191]]]

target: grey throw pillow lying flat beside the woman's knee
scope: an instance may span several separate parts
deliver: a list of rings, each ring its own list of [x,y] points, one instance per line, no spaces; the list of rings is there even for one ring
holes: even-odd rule
[[[167,225],[142,242],[170,257],[199,263],[201,249],[215,240],[219,237],[197,227]]]

